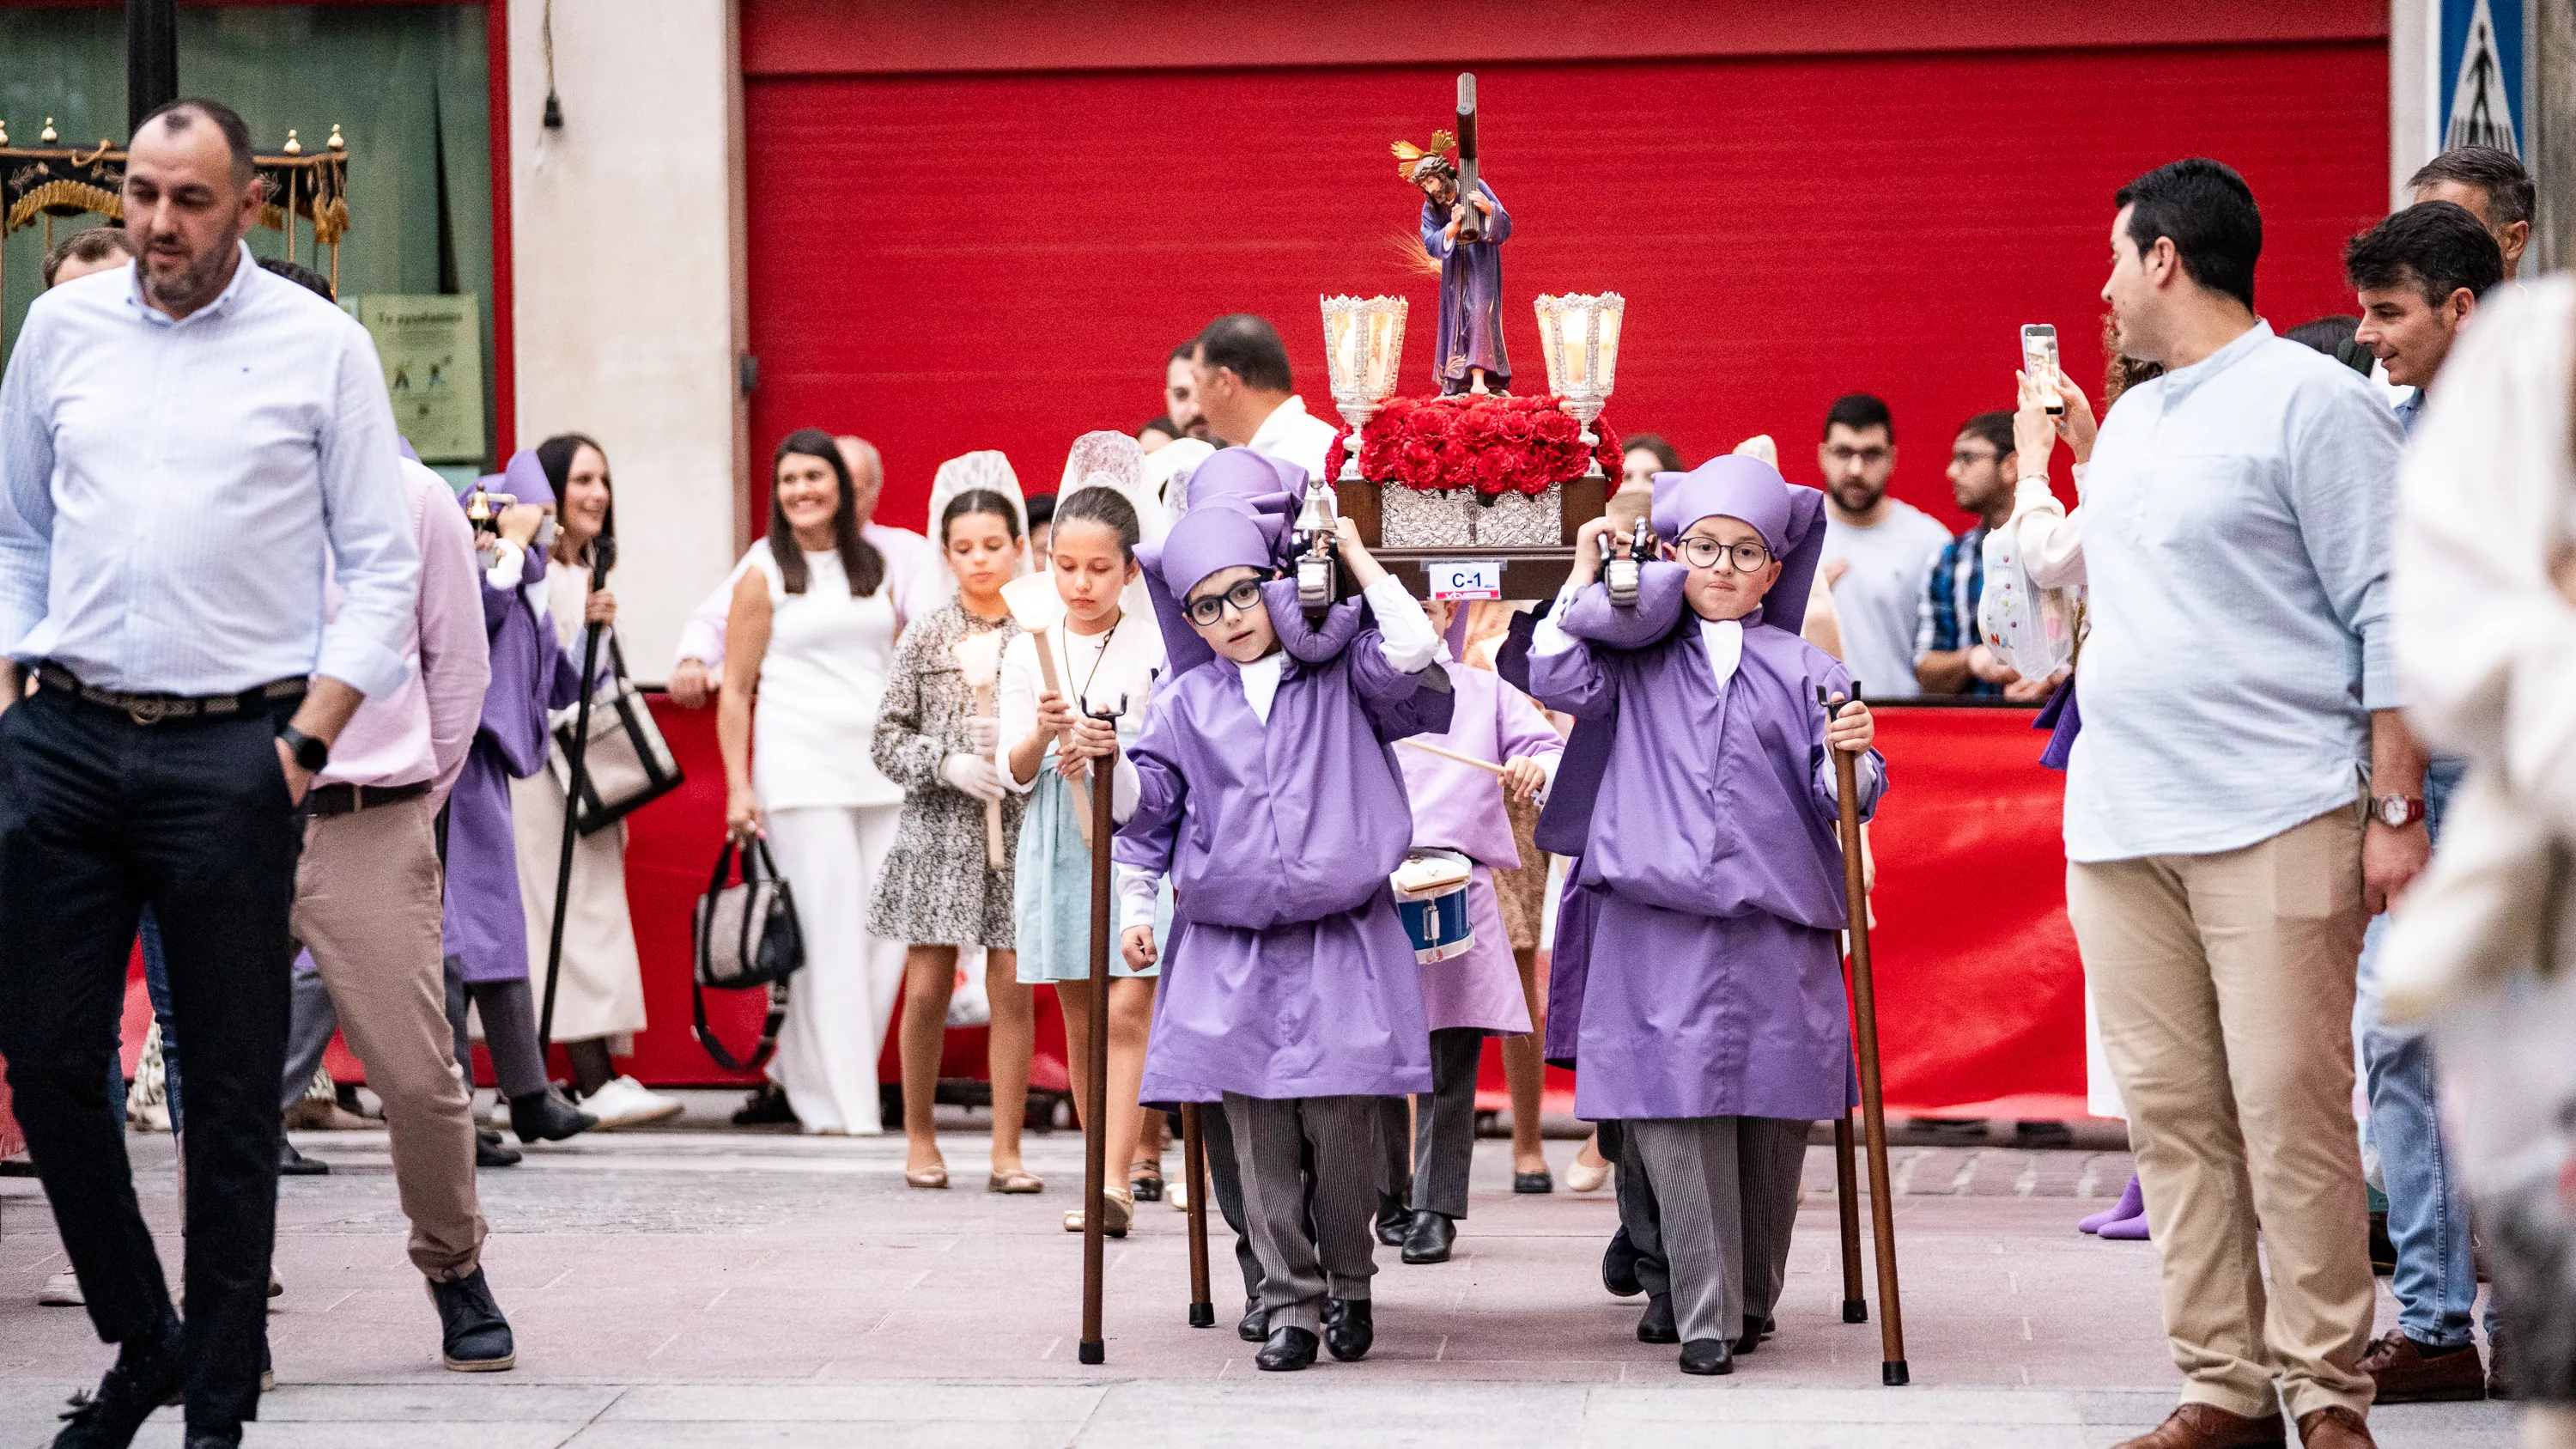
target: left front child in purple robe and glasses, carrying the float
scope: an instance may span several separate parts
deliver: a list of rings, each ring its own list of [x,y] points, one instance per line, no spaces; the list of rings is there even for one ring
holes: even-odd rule
[[[1360,601],[1309,621],[1252,513],[1193,500],[1151,567],[1159,606],[1213,657],[1157,688],[1113,776],[1128,967],[1162,957],[1154,887],[1175,887],[1144,1098],[1224,1104],[1262,1269],[1255,1364],[1273,1372],[1314,1364],[1319,1333],[1334,1359],[1368,1354],[1370,1098],[1432,1088],[1414,946],[1386,884],[1414,828],[1388,743],[1448,727],[1448,676],[1422,606],[1350,521],[1340,552],[1373,629]],[[1105,727],[1084,722],[1077,748],[1105,753]]]

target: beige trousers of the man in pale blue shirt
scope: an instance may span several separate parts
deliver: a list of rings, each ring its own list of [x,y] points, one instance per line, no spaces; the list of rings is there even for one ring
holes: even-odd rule
[[[2182,1397],[2367,1410],[2360,810],[2239,851],[2069,864],[2066,913],[2128,1104]]]

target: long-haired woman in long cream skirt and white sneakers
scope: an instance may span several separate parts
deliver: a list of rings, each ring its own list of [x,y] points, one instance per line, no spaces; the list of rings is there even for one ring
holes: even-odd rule
[[[592,541],[616,539],[616,495],[608,451],[582,433],[559,433],[536,446],[536,462],[554,485],[554,567],[546,603],[567,660],[580,660],[590,606]],[[600,588],[600,593],[608,593]],[[623,678],[616,634],[600,627],[598,663]],[[574,665],[580,668],[580,665]],[[592,706],[592,722],[613,719]],[[598,737],[600,730],[592,730]],[[528,905],[528,964],[546,969],[554,944],[554,877],[564,848],[564,737],[554,740],[554,768],[510,781],[510,817],[518,830],[518,890]],[[572,846],[572,908],[564,913],[564,959],[554,990],[554,1039],[572,1057],[572,1091],[600,1129],[680,1116],[680,1101],[621,1075],[616,1057],[634,1052],[644,1029],[644,969],[636,931],[626,915],[626,825],[577,835]],[[538,987],[544,993],[544,987]]]

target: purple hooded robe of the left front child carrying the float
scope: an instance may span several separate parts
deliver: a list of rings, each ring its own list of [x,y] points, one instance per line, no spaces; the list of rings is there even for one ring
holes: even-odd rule
[[[1239,565],[1270,567],[1262,529],[1193,505],[1149,567],[1185,598]],[[1450,696],[1396,673],[1355,601],[1309,627],[1296,580],[1265,596],[1285,650],[1270,719],[1242,668],[1211,657],[1154,691],[1128,755],[1139,802],[1110,853],[1175,892],[1141,1101],[1432,1091],[1414,946],[1386,884],[1412,841],[1388,743],[1448,727]]]

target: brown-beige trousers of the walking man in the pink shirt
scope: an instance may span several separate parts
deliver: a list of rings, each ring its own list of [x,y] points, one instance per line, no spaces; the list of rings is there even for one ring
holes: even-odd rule
[[[366,1085],[384,1098],[412,1266],[453,1281],[482,1263],[474,1093],[456,1070],[440,969],[440,866],[428,797],[317,815],[296,864],[296,946],[314,954]]]

